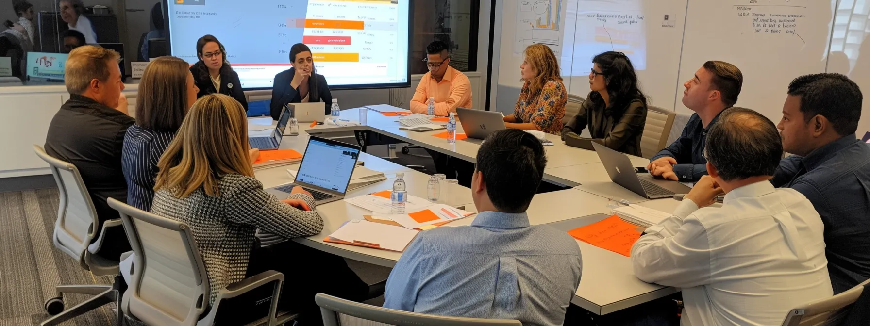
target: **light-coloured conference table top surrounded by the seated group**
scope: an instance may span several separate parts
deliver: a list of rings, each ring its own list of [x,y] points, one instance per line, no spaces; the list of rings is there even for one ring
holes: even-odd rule
[[[351,121],[358,121],[358,115],[357,108],[341,112],[341,118]],[[310,136],[344,135],[346,137],[353,131],[367,131],[388,136],[400,142],[412,143],[428,150],[435,150],[468,162],[475,162],[481,143],[479,140],[469,138],[458,140],[456,143],[447,143],[444,138],[432,136],[445,130],[424,132],[400,130],[398,116],[384,116],[375,110],[367,110],[366,116],[365,125],[338,127],[325,124],[311,126],[308,123],[300,123],[298,136],[284,136],[280,148],[298,150],[300,153],[304,153]],[[250,121],[259,121],[259,124],[265,124],[271,123],[271,118],[258,118]],[[457,129],[457,132],[463,132],[460,123],[457,123]],[[267,132],[268,130],[250,131],[251,135]],[[567,146],[559,136],[547,135],[546,137],[552,141],[553,145],[545,146],[547,166],[544,171],[544,179],[550,183],[565,185],[566,189],[534,196],[527,210],[529,222],[532,225],[554,223],[582,216],[589,216],[586,217],[588,223],[595,223],[600,220],[600,217],[592,215],[610,215],[612,208],[608,204],[612,199],[627,200],[632,204],[636,203],[640,206],[666,212],[673,212],[676,209],[679,202],[671,198],[646,200],[646,198],[612,183],[594,151]],[[405,173],[405,183],[410,195],[425,197],[429,175],[366,153],[359,156],[359,161],[364,162],[366,168],[384,172],[387,179],[350,190],[346,197],[390,190],[398,172]],[[642,157],[632,157],[632,163],[635,166],[646,166],[648,162]],[[287,169],[298,169],[298,164],[255,170],[255,173],[264,187],[269,188],[293,181],[287,173]],[[446,204],[477,212],[470,189],[459,185],[448,186],[451,188],[443,192],[443,194],[448,195],[442,198]],[[371,214],[371,211],[345,201],[319,205],[317,211],[320,216],[323,216],[324,230],[316,236],[298,238],[295,240],[298,243],[338,256],[385,267],[393,267],[401,256],[399,252],[324,241],[326,236],[338,230],[345,222],[362,219],[364,215]],[[468,225],[473,220],[474,216],[470,216],[447,223],[442,227]],[[586,223],[586,220],[583,223]],[[629,257],[581,241],[577,241],[577,243],[582,254],[583,269],[579,288],[572,303],[577,304],[580,308],[598,315],[606,315],[678,291],[671,287],[640,281],[632,272],[632,263]]]

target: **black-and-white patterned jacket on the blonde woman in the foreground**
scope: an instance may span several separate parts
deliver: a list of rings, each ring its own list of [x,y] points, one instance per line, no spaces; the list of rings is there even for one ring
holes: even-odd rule
[[[218,187],[218,196],[207,196],[198,189],[184,198],[158,190],[151,206],[151,213],[191,228],[209,276],[210,305],[220,289],[244,279],[258,228],[294,238],[316,235],[324,227],[311,196],[289,197],[308,203],[311,211],[304,211],[281,203],[263,190],[263,183],[250,176],[223,176]]]

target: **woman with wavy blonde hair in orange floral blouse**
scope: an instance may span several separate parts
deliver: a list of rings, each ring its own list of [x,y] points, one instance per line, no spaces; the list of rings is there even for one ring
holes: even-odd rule
[[[519,74],[525,83],[513,114],[505,116],[505,127],[559,135],[568,101],[568,92],[559,76],[559,61],[549,47],[540,43],[529,45],[523,55]]]

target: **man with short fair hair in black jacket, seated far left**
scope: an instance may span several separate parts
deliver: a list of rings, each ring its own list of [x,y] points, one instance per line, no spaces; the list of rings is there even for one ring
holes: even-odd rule
[[[101,224],[118,218],[106,199],[127,199],[121,152],[134,120],[121,111],[127,103],[120,99],[124,84],[117,58],[115,51],[89,45],[70,52],[65,68],[70,99],[51,120],[45,137],[45,152],[81,173]]]

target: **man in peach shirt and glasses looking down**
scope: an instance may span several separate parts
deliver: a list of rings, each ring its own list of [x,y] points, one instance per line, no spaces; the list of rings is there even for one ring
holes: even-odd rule
[[[435,97],[435,115],[456,113],[457,107],[472,107],[472,83],[465,74],[450,66],[447,43],[435,41],[426,47],[426,67],[429,73],[420,78],[420,84],[411,99],[411,111],[426,113],[429,97]]]

